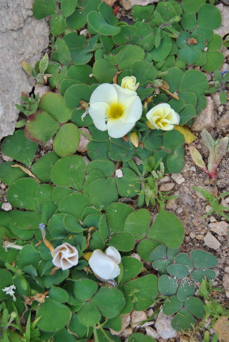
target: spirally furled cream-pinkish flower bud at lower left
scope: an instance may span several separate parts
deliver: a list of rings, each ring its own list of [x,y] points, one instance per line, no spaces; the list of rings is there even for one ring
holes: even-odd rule
[[[57,267],[68,269],[78,264],[78,250],[75,246],[68,244],[68,242],[64,242],[64,244],[56,247],[53,254],[55,256],[52,262]]]

